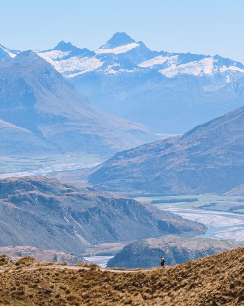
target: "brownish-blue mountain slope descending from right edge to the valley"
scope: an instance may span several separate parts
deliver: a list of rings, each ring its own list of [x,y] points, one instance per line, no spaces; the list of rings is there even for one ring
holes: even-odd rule
[[[106,190],[244,195],[244,107],[183,136],[118,152],[89,181]]]

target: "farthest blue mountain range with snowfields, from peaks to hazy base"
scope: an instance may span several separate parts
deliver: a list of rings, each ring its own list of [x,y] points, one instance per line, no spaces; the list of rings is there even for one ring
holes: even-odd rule
[[[219,55],[152,51],[126,33],[98,50],[37,51],[91,103],[154,132],[184,133],[243,105],[244,65]]]

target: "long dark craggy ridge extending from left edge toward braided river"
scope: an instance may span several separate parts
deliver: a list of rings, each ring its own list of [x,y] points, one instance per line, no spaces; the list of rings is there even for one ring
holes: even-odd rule
[[[30,245],[79,254],[89,244],[132,241],[174,233],[206,231],[185,220],[126,197],[56,179],[0,179],[0,246]]]

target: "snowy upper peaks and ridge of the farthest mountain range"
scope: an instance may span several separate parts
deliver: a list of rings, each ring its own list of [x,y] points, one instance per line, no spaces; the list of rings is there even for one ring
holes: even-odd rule
[[[157,69],[167,77],[187,73],[205,76],[214,82],[228,83],[244,77],[244,65],[240,62],[219,55],[151,51],[141,41],[135,42],[120,32],[96,51],[61,41],[55,48],[37,53],[68,79],[95,70],[119,74],[145,70],[143,68]]]

